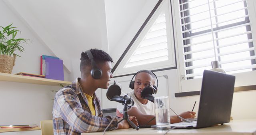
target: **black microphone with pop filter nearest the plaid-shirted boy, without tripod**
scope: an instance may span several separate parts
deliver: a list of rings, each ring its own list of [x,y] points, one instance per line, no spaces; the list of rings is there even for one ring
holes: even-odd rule
[[[125,107],[130,108],[134,105],[134,101],[129,98],[127,95],[121,95],[121,86],[118,82],[114,81],[114,84],[108,87],[108,91],[106,93],[108,100],[116,101],[125,105]]]

